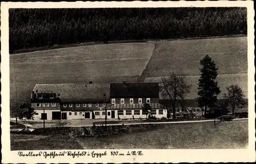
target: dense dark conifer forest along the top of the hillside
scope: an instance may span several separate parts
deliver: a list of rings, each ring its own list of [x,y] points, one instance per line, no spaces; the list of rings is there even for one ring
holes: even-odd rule
[[[9,9],[9,49],[247,34],[246,8]]]

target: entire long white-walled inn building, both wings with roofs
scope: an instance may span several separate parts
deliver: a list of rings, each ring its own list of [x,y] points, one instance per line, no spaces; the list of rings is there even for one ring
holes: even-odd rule
[[[152,115],[167,116],[159,103],[158,83],[37,84],[31,94],[35,119],[145,118],[144,103],[150,104]]]

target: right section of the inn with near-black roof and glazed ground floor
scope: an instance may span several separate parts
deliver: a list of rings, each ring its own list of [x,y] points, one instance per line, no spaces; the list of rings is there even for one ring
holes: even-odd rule
[[[159,103],[158,83],[123,83],[110,85],[111,118],[144,119],[144,103],[150,104],[151,115],[156,118],[167,117],[167,108]]]

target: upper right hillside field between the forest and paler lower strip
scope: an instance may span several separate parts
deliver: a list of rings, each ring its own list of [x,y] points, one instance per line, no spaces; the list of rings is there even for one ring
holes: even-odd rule
[[[247,73],[247,37],[157,41],[144,70],[146,77],[166,76],[170,71],[199,75],[206,55],[216,62],[219,74]]]

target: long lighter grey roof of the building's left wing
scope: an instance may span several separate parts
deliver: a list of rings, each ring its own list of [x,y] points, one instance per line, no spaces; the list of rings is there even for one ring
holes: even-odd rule
[[[109,101],[109,84],[37,84],[33,91],[38,93],[56,93],[62,103],[100,103]]]

